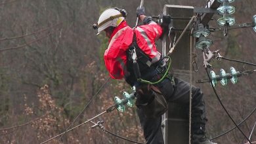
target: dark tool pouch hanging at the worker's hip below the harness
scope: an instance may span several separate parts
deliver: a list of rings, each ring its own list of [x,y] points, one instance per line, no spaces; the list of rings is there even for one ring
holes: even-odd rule
[[[136,105],[138,109],[142,109],[147,118],[161,117],[167,111],[167,101],[156,86],[151,85],[150,90],[152,91],[150,101],[147,103],[140,101],[142,96],[148,97],[140,93],[137,96]]]

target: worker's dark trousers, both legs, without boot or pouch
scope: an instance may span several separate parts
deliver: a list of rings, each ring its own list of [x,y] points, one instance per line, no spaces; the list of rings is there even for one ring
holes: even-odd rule
[[[175,84],[170,79],[164,79],[157,84],[161,93],[167,101],[181,103],[186,105],[189,110],[189,92],[190,84],[175,78]],[[189,111],[188,111],[189,112]],[[163,135],[161,132],[161,117],[148,118],[145,117],[141,109],[137,109],[140,118],[140,124],[144,130],[144,137],[148,144],[162,144]],[[189,114],[189,113],[188,113]],[[200,88],[192,86],[192,134],[205,130],[205,103],[203,101],[203,93]]]

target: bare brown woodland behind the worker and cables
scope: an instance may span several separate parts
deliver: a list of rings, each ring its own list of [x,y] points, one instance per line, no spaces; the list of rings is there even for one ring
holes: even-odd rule
[[[96,36],[92,25],[102,10],[119,7],[127,10],[127,22],[133,27],[139,0],[1,0],[0,1],[0,143],[40,143],[60,134],[94,98],[92,103],[75,120],[80,124],[94,117],[113,104],[114,96],[130,90],[123,80],[109,79],[102,59],[107,40],[104,35]],[[147,15],[162,13],[164,5],[188,5],[204,7],[204,0],[158,0],[145,1]],[[237,0],[236,24],[252,22],[256,14],[255,0]],[[214,16],[210,22],[217,26]],[[211,50],[221,50],[227,58],[256,63],[253,29],[234,29],[211,33]],[[206,78],[202,66],[202,54],[198,52],[196,79]],[[215,69],[255,69],[234,62],[214,62]],[[217,71],[217,70],[216,70]],[[255,108],[256,75],[240,77],[238,84],[221,86],[217,92],[226,109],[238,123]],[[104,82],[108,81],[102,90]],[[196,84],[205,94],[207,107],[207,135],[215,137],[234,127],[224,113],[209,83]],[[93,97],[95,96],[95,97]],[[135,108],[125,113],[114,111],[96,120],[104,120],[106,130],[144,141]],[[240,128],[249,136],[256,115]],[[102,132],[90,129],[92,123],[84,124],[72,132],[49,143],[129,143]],[[252,135],[256,141],[256,132]],[[215,139],[219,143],[245,143],[238,131]]]

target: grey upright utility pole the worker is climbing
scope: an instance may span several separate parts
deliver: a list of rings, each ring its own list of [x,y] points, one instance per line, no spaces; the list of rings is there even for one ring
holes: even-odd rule
[[[196,9],[190,6],[182,5],[165,5],[163,7],[163,14],[169,14],[172,18],[170,27],[173,28],[171,32],[176,33],[178,39],[182,30],[187,26],[188,22],[195,15],[196,10],[202,10],[203,16],[201,23],[205,26],[211,20],[214,10],[216,10],[221,3],[217,0],[210,0],[207,2],[205,8]],[[205,12],[208,10],[209,12]],[[190,26],[191,27],[191,26]],[[171,55],[172,59],[172,73],[175,77],[183,79],[184,81],[194,84],[192,78],[192,52],[194,51],[194,39],[190,37],[190,30],[188,29],[181,38],[181,41],[175,46],[175,52]],[[175,34],[172,34],[171,39],[165,37],[162,40],[162,54],[165,56],[169,51],[169,43],[175,42]],[[190,100],[192,99],[192,92],[190,88]],[[190,144],[191,133],[191,101],[190,111],[187,107],[178,103],[168,103],[168,111],[162,116],[162,132],[165,144]],[[188,115],[190,114],[190,115]]]

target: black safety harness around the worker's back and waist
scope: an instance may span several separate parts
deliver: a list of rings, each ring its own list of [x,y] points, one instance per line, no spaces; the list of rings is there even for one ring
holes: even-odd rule
[[[137,37],[133,29],[133,43],[127,50],[127,71],[129,75],[125,77],[125,81],[134,85],[135,82],[144,82],[148,84],[157,84],[168,76],[171,66],[171,58],[163,57],[158,62],[152,63],[152,58],[148,56],[137,44]],[[165,58],[169,58],[168,67],[165,65]],[[163,74],[157,81],[150,82],[157,74]],[[143,74],[143,76],[141,76]]]

